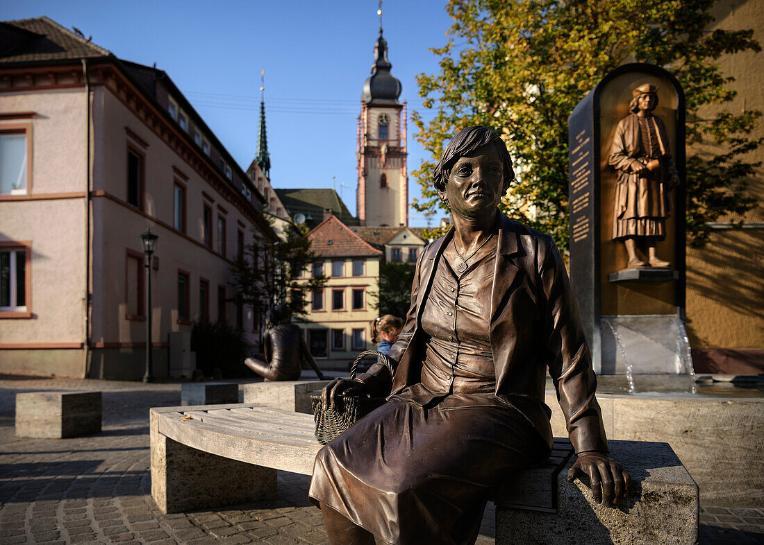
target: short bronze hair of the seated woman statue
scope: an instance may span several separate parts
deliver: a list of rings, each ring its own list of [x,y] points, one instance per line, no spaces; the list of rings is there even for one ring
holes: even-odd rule
[[[465,155],[469,155],[474,150],[493,144],[499,154],[504,166],[504,189],[510,187],[510,183],[515,179],[515,171],[512,168],[512,159],[510,152],[507,151],[507,144],[493,129],[485,127],[467,127],[460,130],[445,146],[443,155],[432,173],[432,184],[438,191],[445,191],[448,184],[448,176],[451,175],[451,169],[455,163]]]

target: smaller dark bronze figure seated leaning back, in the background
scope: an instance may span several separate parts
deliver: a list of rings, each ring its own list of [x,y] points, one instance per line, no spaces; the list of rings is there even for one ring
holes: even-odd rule
[[[298,380],[303,370],[303,360],[316,371],[320,380],[324,375],[313,359],[299,326],[290,323],[292,313],[286,305],[277,305],[265,314],[265,360],[254,357],[244,360],[261,377],[268,380]]]

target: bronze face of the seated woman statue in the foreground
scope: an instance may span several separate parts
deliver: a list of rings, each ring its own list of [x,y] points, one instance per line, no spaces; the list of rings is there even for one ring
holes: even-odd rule
[[[493,215],[506,193],[504,165],[496,146],[488,144],[460,157],[448,175],[441,198],[448,198],[452,213],[465,218]]]

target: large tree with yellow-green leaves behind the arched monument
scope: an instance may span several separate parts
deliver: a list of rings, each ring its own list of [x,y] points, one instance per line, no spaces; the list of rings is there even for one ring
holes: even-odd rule
[[[721,73],[724,53],[759,51],[753,30],[705,29],[714,0],[451,0],[454,19],[440,72],[417,76],[424,110],[415,112],[416,139],[432,155],[413,174],[429,214],[445,208],[431,173],[453,134],[470,125],[497,130],[519,172],[504,213],[553,236],[568,248],[568,116],[610,70],[644,62],[672,72],[685,89],[687,143],[724,152],[687,161],[687,234],[704,245],[707,222],[742,216],[756,201],[747,181],[759,163],[746,153],[759,111],[704,117],[703,107],[732,100],[733,80]],[[427,232],[426,236],[437,232]]]

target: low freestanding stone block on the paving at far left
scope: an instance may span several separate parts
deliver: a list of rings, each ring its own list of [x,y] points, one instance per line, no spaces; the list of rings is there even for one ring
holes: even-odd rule
[[[16,435],[61,439],[101,432],[100,392],[16,394]]]

